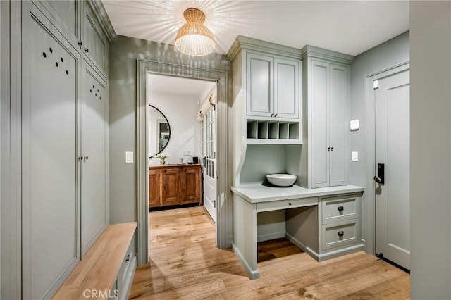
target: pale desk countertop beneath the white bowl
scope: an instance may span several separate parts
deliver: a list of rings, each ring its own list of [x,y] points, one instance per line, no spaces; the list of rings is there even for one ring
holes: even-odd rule
[[[363,187],[357,187],[356,185],[306,189],[305,187],[298,187],[297,185],[293,185],[292,187],[266,187],[261,184],[251,184],[242,185],[240,187],[230,187],[230,189],[233,193],[250,203],[330,196],[364,191]]]

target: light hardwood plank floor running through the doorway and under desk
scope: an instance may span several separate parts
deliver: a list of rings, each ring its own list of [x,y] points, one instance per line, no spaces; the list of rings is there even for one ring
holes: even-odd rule
[[[358,252],[318,263],[285,239],[259,243],[259,280],[215,247],[204,208],[149,213],[150,263],[130,299],[408,299],[409,275]]]

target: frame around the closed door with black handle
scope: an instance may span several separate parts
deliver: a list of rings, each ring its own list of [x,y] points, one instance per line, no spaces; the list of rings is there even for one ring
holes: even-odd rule
[[[371,73],[365,77],[365,157],[366,157],[366,180],[364,201],[362,201],[362,232],[365,240],[366,253],[376,254],[376,185],[373,177],[376,169],[374,167],[376,154],[376,126],[375,126],[375,102],[373,80],[381,80],[384,77],[395,75],[410,69],[410,62],[405,61],[390,68]]]

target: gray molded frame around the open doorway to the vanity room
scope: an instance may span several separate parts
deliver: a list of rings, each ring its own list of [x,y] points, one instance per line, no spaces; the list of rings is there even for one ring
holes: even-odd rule
[[[217,217],[216,246],[228,248],[228,73],[221,70],[192,68],[185,65],[137,60],[137,258],[142,265],[149,260],[149,168],[147,154],[148,74],[171,75],[216,82]],[[193,115],[193,118],[196,116]]]

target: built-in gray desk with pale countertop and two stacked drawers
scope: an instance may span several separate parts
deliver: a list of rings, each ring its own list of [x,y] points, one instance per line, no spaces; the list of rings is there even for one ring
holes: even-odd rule
[[[233,251],[249,277],[257,269],[257,213],[285,210],[285,237],[323,261],[362,249],[360,233],[363,187],[231,187]]]

